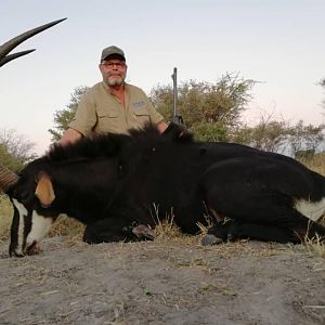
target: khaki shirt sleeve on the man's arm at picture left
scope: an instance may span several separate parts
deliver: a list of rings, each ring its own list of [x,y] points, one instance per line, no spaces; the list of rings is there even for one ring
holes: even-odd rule
[[[77,130],[83,135],[89,135],[96,125],[95,102],[91,93],[81,98],[75,117],[69,122],[69,128]]]

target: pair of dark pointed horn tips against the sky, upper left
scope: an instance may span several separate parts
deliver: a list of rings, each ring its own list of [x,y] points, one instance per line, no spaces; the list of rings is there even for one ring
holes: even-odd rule
[[[35,50],[27,50],[27,51],[22,51],[22,52],[6,55],[9,52],[11,52],[14,48],[16,48],[20,43],[22,43],[26,39],[37,35],[37,34],[65,21],[65,20],[66,18],[62,18],[62,20],[54,21],[54,22],[48,23],[46,25],[36,27],[36,28],[25,31],[25,32],[14,37],[13,39],[9,40],[8,42],[3,43],[0,47],[0,66],[4,65],[5,63],[8,63],[16,57],[26,55],[26,54],[35,51]]]

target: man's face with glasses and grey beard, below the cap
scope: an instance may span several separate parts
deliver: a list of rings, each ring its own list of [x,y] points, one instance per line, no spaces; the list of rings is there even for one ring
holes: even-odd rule
[[[127,77],[128,66],[120,60],[104,60],[100,64],[103,80],[107,86],[121,86]]]

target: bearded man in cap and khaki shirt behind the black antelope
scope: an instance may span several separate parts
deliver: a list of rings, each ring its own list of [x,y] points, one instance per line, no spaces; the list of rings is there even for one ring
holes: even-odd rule
[[[104,49],[99,68],[103,81],[82,96],[69,128],[60,140],[62,145],[98,132],[127,133],[148,121],[156,125],[159,132],[167,129],[164,117],[146,94],[125,81],[128,66],[121,49],[114,46]]]

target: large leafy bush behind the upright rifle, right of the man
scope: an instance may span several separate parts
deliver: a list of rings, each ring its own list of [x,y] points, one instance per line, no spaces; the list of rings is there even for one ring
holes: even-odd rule
[[[178,110],[191,130],[202,130],[203,123],[213,129],[235,126],[250,100],[249,90],[253,83],[232,74],[226,74],[216,83],[183,82],[178,88]],[[151,91],[151,100],[167,120],[172,119],[171,86],[158,84]],[[211,123],[216,125],[211,127]]]

